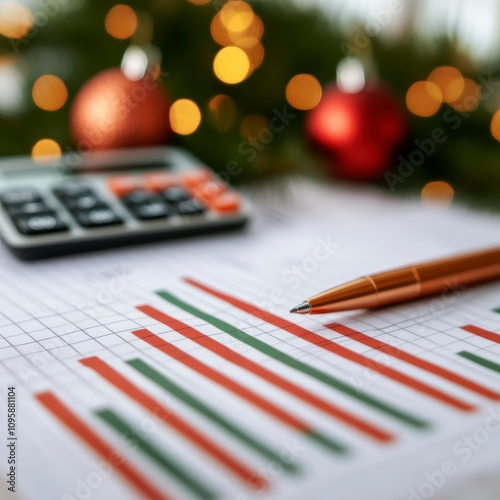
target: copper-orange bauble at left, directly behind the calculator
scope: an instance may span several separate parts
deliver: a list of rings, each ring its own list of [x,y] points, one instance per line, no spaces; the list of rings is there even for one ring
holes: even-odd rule
[[[80,89],[70,122],[77,145],[85,149],[147,146],[168,139],[168,112],[166,92],[151,74],[133,81],[112,68]]]

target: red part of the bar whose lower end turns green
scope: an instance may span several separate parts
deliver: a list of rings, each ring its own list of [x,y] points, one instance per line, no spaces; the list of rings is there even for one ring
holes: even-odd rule
[[[295,418],[293,415],[290,415],[286,411],[274,405],[274,403],[267,401],[250,389],[247,389],[246,387],[238,384],[238,382],[231,380],[229,377],[226,377],[222,373],[214,370],[213,368],[210,368],[201,361],[198,361],[196,358],[193,358],[184,351],[181,351],[179,348],[170,344],[166,340],[161,339],[149,330],[146,330],[144,328],[132,333],[136,337],[147,342],[150,346],[155,347],[156,349],[165,353],[167,356],[176,359],[180,363],[198,372],[200,375],[203,375],[205,378],[208,378],[215,383],[222,385],[237,396],[246,399],[249,403],[264,410],[265,412],[269,413],[276,419],[281,420],[290,427],[300,432],[313,432],[313,429],[309,426],[309,424]]]

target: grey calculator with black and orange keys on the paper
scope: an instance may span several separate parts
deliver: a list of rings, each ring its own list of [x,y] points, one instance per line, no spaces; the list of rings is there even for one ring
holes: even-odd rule
[[[243,227],[249,207],[177,147],[0,161],[0,234],[32,260]]]

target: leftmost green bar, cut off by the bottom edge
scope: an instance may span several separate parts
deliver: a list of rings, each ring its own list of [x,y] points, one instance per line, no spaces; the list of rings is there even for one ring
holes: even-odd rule
[[[128,440],[134,442],[137,447],[149,458],[155,461],[160,467],[173,476],[175,476],[186,488],[188,488],[192,493],[202,499],[215,499],[217,495],[205,488],[198,479],[192,474],[186,472],[184,469],[176,465],[175,461],[165,455],[161,450],[159,450],[155,445],[151,444],[149,441],[145,440],[139,434],[137,434],[132,427],[121,417],[119,417],[113,410],[103,409],[96,411],[96,415],[106,422],[115,431],[119,432],[123,436],[127,437]]]

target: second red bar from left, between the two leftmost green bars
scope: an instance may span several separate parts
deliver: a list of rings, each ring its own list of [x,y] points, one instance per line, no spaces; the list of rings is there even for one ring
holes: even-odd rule
[[[224,464],[245,482],[251,484],[252,487],[262,489],[268,486],[267,481],[263,477],[260,477],[254,471],[247,469],[246,466],[241,464],[237,459],[226,453],[222,448],[198,432],[189,423],[175,415],[173,410],[170,410],[161,403],[158,403],[158,401],[143,392],[136,385],[132,384],[132,382],[127,380],[123,375],[118,373],[102,359],[92,356],[90,358],[81,359],[80,363],[97,372],[110,384],[114,385],[117,389],[124,392],[127,396],[146,408],[146,410],[149,410],[155,417],[158,417],[161,421],[170,427],[173,427],[180,434],[195,443],[201,449],[205,450],[206,453]]]

